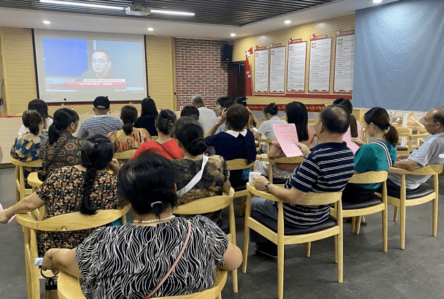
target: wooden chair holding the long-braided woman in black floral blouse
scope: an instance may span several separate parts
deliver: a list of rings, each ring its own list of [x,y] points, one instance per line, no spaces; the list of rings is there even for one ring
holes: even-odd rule
[[[117,219],[126,223],[126,213],[130,205],[121,210],[99,210],[96,214],[86,215],[80,212],[62,214],[39,221],[32,213],[16,214],[17,222],[23,226],[25,240],[25,270],[27,281],[27,298],[40,299],[39,269],[34,266],[34,259],[38,258],[36,230],[46,232],[70,232],[74,230],[87,230],[107,225]],[[49,273],[47,273],[50,275]],[[43,279],[43,278],[41,278]]]

